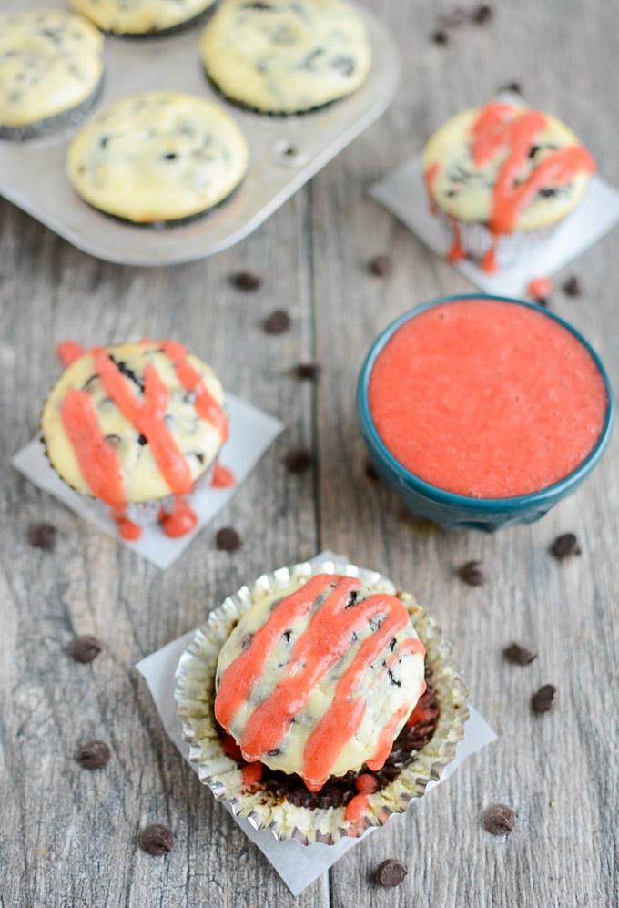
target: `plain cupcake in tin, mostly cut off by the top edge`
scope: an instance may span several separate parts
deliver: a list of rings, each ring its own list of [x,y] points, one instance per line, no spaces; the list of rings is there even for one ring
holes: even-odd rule
[[[215,0],[70,0],[104,32],[115,35],[161,35],[186,26]]]

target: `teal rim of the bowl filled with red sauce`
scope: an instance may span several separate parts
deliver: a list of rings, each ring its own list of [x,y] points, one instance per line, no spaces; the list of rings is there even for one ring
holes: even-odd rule
[[[397,332],[398,329],[401,328],[403,324],[405,324],[405,322],[410,321],[417,315],[420,315],[423,311],[433,309],[435,306],[439,306],[442,303],[457,303],[464,300],[489,300],[511,303],[512,305],[523,306],[525,309],[536,311],[540,315],[558,322],[563,326],[563,328],[573,334],[573,337],[575,337],[577,341],[583,344],[585,350],[587,350],[587,352],[589,352],[590,356],[592,357],[598,372],[600,372],[600,374],[602,375],[602,379],[604,381],[604,389],[606,392],[606,412],[604,414],[604,423],[600,434],[598,435],[597,441],[581,464],[578,464],[578,466],[571,473],[563,476],[562,479],[559,479],[552,485],[544,485],[543,488],[537,489],[534,492],[528,492],[525,495],[512,495],[507,498],[478,498],[473,495],[460,495],[456,492],[449,492],[447,489],[442,489],[438,485],[431,485],[431,483],[428,483],[424,479],[421,479],[421,476],[411,473],[411,471],[407,469],[407,467],[401,464],[401,462],[397,460],[393,454],[391,454],[391,451],[382,441],[381,436],[379,435],[376,426],[374,425],[374,421],[370,413],[370,403],[368,398],[370,376],[374,367],[374,363],[376,362],[383,348],[386,346],[387,342],[391,340],[392,335]],[[403,312],[395,321],[391,321],[391,324],[389,324],[379,334],[379,336],[370,346],[370,350],[367,353],[365,360],[363,361],[363,365],[361,366],[359,382],[357,384],[357,412],[360,422],[361,434],[363,434],[363,436],[365,437],[366,442],[369,442],[370,445],[373,445],[378,454],[381,455],[381,458],[386,461],[389,468],[391,469],[391,472],[397,474],[398,478],[406,485],[413,488],[421,495],[424,495],[426,498],[429,498],[433,501],[438,501],[443,505],[452,505],[455,507],[468,508],[472,510],[480,510],[481,508],[483,508],[487,512],[496,513],[505,510],[513,511],[525,508],[528,509],[533,505],[542,505],[544,503],[547,503],[548,499],[561,497],[571,487],[578,485],[583,480],[583,478],[594,468],[595,464],[597,464],[597,462],[599,461],[600,457],[604,453],[604,448],[606,447],[606,444],[608,444],[608,441],[610,439],[614,423],[614,393],[610,378],[604,366],[604,362],[602,362],[599,354],[594,350],[594,347],[587,341],[583,334],[579,332],[571,322],[566,321],[560,315],[557,315],[555,312],[548,311],[547,309],[543,309],[543,307],[541,307],[537,303],[520,300],[516,297],[482,292],[453,293],[447,296],[438,297],[434,300],[423,302],[419,306],[415,306],[412,309]],[[372,453],[371,447],[370,453]]]

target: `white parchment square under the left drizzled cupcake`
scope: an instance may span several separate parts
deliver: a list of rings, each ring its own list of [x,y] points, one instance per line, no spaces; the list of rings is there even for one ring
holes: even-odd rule
[[[190,542],[198,535],[218,512],[228,504],[238,486],[249,476],[270,444],[283,429],[283,423],[257,407],[240,400],[233,394],[226,394],[226,407],[230,423],[230,435],[222,448],[221,462],[235,475],[235,485],[229,488],[213,488],[208,483],[198,485],[190,495],[191,506],[198,515],[198,524],[187,536],[172,539],[162,532],[155,523],[144,527],[142,536],[136,542],[127,542],[117,533],[117,525],[105,514],[103,508],[93,506],[83,496],[74,492],[50,466],[40,438],[26,444],[13,457],[13,465],[27,478],[58,498],[77,515],[96,525],[107,536],[114,536],[118,542],[133,549],[147,561],[166,570],[181,555]]]

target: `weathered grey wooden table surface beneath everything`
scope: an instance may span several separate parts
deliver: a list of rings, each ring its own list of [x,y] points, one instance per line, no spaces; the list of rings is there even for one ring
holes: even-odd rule
[[[617,32],[608,0],[494,5],[492,22],[429,36],[439,15],[422,0],[375,0],[404,59],[391,110],[249,240],[214,260],[162,270],[105,264],[76,251],[20,210],[0,204],[2,471],[0,558],[3,906],[286,906],[295,903],[223,807],[198,784],[159,723],[134,663],[201,623],[263,570],[323,547],[409,587],[452,638],[472,702],[500,735],[452,780],[352,850],[299,906],[571,906],[619,903],[619,471],[617,434],[584,487],[532,526],[496,536],[423,532],[364,476],[353,393],[371,340],[401,311],[469,284],[421,247],[366,195],[371,180],[410,156],[443,119],[517,79],[534,104],[583,137],[619,185]],[[443,9],[449,8],[444,5]],[[388,250],[388,279],[365,262]],[[259,273],[254,294],[236,270]],[[583,296],[566,297],[577,273]],[[557,276],[552,308],[573,321],[619,375],[619,230]],[[291,330],[260,321],[285,308]],[[286,432],[216,525],[167,573],[102,536],[17,474],[10,455],[36,431],[58,374],[54,344],[140,332],[189,342],[225,385],[278,415]],[[299,383],[301,361],[322,366]],[[315,464],[292,475],[282,456],[308,445]],[[27,526],[58,527],[53,554],[26,543]],[[233,525],[243,546],[218,552]],[[548,555],[573,530],[583,554]],[[491,581],[466,587],[453,568],[481,558]],[[91,666],[66,646],[78,633],[105,644]],[[502,659],[512,639],[539,649],[528,668]],[[543,682],[560,707],[533,717]],[[107,740],[106,770],[76,765],[84,740]],[[506,839],[482,830],[492,801],[518,814]],[[166,858],[136,847],[141,825],[176,834]],[[409,865],[396,890],[370,882],[387,857]]]

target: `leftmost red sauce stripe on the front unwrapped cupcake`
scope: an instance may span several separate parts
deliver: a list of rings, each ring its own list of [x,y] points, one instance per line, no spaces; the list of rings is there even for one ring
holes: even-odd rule
[[[338,577],[319,574],[311,577],[291,596],[279,601],[269,620],[254,634],[249,648],[242,652],[226,669],[215,699],[215,715],[219,725],[230,729],[238,708],[249,699],[249,693],[260,677],[279,638],[299,618],[307,615],[320,593]]]

